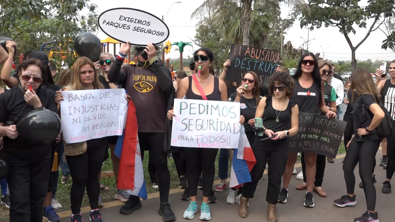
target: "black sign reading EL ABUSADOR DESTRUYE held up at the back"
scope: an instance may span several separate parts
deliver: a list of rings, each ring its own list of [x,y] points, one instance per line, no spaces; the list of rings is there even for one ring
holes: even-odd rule
[[[240,82],[244,73],[253,71],[258,75],[259,83],[266,85],[270,75],[277,68],[280,53],[270,49],[232,44],[229,60],[231,66],[226,72],[227,80]]]

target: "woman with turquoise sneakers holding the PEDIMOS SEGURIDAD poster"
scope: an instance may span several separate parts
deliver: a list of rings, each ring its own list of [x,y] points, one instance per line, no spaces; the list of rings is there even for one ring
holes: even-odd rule
[[[194,53],[196,67],[201,66],[200,76],[197,74],[196,77],[199,80],[200,86],[203,88],[207,100],[214,101],[228,101],[227,89],[224,81],[214,77],[214,69],[212,67],[214,61],[214,54],[208,48],[201,48]],[[198,70],[195,70],[198,73]],[[194,83],[192,76],[181,80],[176,98],[202,100],[202,96],[199,93],[198,87]],[[169,110],[167,118],[173,119],[173,110]],[[244,117],[240,117],[241,124],[244,123]],[[210,208],[207,205],[211,190],[214,182],[215,172],[215,158],[217,156],[218,149],[214,148],[184,148],[184,155],[187,164],[188,173],[186,175],[188,181],[190,204],[183,217],[185,219],[194,218],[194,214],[198,212],[198,205],[196,202],[196,195],[198,190],[198,181],[200,173],[203,172],[203,202],[200,207],[200,219],[211,220]]]

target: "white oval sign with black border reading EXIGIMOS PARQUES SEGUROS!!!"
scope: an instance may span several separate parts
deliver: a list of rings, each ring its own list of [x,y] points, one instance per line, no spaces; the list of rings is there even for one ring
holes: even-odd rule
[[[169,27],[158,17],[132,8],[113,8],[98,18],[100,29],[111,38],[130,45],[158,45],[169,37]]]

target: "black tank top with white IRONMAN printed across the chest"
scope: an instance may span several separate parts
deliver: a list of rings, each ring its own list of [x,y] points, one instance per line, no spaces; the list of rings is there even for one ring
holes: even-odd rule
[[[303,88],[299,84],[299,79],[295,79],[295,90],[291,99],[297,103],[299,112],[320,114],[321,111],[318,108],[320,92],[321,90],[315,82],[313,82],[310,88]]]

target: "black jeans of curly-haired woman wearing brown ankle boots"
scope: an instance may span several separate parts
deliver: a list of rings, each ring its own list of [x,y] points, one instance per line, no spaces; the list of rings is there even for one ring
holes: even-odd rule
[[[269,170],[267,172],[266,201],[271,204],[277,204],[281,188],[281,177],[284,174],[288,160],[286,140],[273,141],[266,139],[260,141],[257,138],[252,146],[252,152],[254,152],[256,164],[252,167],[250,173],[251,182],[246,182],[243,185],[242,195],[245,198],[254,198],[256,186],[262,178],[267,163]]]

